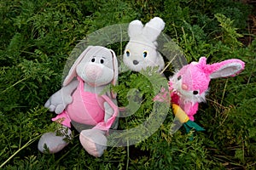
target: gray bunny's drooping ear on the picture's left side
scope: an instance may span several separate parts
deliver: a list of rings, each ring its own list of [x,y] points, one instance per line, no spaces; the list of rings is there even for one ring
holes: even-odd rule
[[[81,62],[81,60],[84,59],[84,56],[88,53],[90,48],[92,48],[92,46],[88,46],[88,48],[84,49],[83,53],[79,55],[78,59],[76,59],[76,61],[72,65],[71,69],[69,70],[67,77],[65,78],[65,80],[63,82],[63,86],[67,86],[67,84],[69,84],[69,82],[71,82],[74,77],[77,77],[76,68],[79,65],[79,63]]]

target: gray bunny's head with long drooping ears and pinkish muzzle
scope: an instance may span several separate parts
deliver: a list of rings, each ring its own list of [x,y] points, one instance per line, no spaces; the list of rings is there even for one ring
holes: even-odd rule
[[[92,87],[115,85],[118,77],[118,61],[113,50],[101,46],[89,46],[76,59],[63,86],[67,86],[73,77],[79,76]]]

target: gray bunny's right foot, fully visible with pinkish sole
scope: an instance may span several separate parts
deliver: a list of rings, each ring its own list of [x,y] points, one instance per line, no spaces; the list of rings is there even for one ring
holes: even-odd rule
[[[79,136],[80,143],[91,156],[100,157],[107,149],[105,132],[97,129],[83,130]]]

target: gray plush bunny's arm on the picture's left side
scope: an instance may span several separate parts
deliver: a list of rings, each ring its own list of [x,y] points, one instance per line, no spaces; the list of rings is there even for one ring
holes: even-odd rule
[[[56,114],[60,114],[64,109],[72,103],[73,91],[77,88],[78,80],[73,80],[67,86],[64,86],[55,94],[50,96],[46,101],[44,107],[48,108],[49,111],[55,111]]]

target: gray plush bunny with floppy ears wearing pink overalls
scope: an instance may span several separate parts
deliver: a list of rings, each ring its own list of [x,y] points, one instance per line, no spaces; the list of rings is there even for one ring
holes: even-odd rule
[[[106,92],[110,83],[115,85],[117,77],[118,62],[113,50],[101,46],[86,48],[70,69],[63,87],[45,103],[49,111],[58,114],[52,120],[62,124],[64,134],[44,133],[38,150],[62,150],[68,144],[65,138],[71,135],[71,123],[77,122],[91,127],[79,133],[84,150],[92,156],[102,156],[107,148],[106,133],[119,114],[114,94]]]

